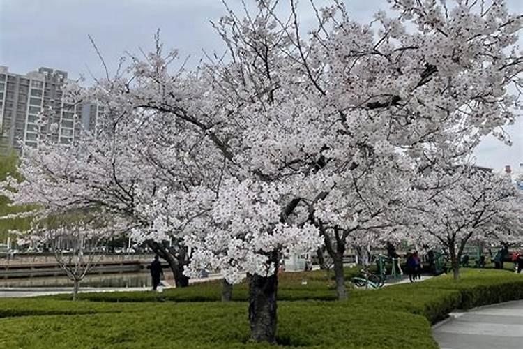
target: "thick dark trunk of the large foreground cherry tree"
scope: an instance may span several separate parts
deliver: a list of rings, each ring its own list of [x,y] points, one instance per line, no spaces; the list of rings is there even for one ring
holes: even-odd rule
[[[278,259],[273,258],[275,272],[271,276],[249,276],[250,339],[255,342],[276,342],[276,297],[278,295]]]

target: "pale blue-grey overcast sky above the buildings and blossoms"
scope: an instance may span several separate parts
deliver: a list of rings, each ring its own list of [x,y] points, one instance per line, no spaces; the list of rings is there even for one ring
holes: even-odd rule
[[[249,2],[250,0],[246,0]],[[229,0],[238,8],[239,0]],[[327,3],[319,0],[317,3]],[[523,0],[508,0],[513,13],[523,13]],[[357,20],[369,20],[385,0],[345,0]],[[308,0],[301,1],[302,22],[312,20]],[[220,0],[0,0],[0,66],[24,74],[47,66],[66,70],[70,78],[102,74],[90,34],[114,71],[125,51],[151,49],[153,34],[162,32],[166,47],[190,55],[192,65],[207,52],[222,52],[209,20],[224,14]],[[523,40],[520,39],[520,43]],[[523,119],[506,128],[513,146],[487,138],[476,151],[477,163],[494,169],[523,163]]]

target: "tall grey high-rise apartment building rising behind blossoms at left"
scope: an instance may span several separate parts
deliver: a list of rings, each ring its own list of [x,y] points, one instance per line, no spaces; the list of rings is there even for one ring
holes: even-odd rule
[[[67,73],[61,70],[39,68],[19,75],[0,66],[0,153],[20,151],[22,144],[36,147],[39,127],[61,144],[74,142],[82,129],[94,129],[103,108],[92,103],[67,103],[63,96],[66,82]],[[40,112],[45,114],[45,121],[38,124]]]

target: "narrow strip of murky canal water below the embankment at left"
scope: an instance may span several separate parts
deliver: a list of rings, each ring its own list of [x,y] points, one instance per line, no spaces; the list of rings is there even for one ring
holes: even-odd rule
[[[70,287],[67,276],[46,276],[23,279],[0,279],[2,287]],[[81,283],[82,287],[151,287],[151,275],[145,273],[99,274],[88,275]]]

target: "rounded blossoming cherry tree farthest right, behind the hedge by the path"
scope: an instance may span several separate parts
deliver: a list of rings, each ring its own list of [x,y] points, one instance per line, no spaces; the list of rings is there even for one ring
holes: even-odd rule
[[[513,184],[488,169],[455,165],[424,174],[410,205],[418,222],[413,238],[441,246],[454,279],[469,242],[523,242],[523,205]]]

